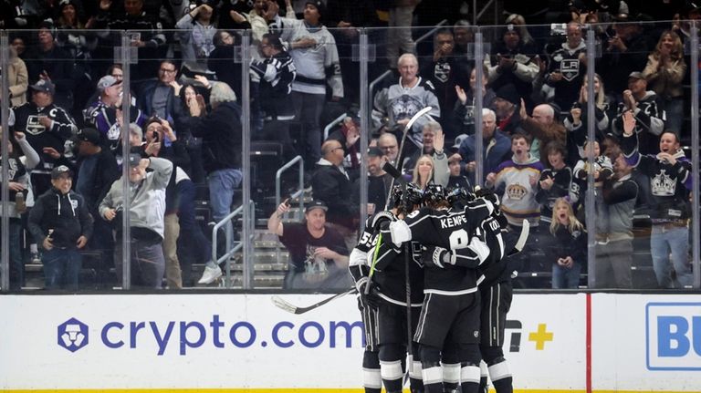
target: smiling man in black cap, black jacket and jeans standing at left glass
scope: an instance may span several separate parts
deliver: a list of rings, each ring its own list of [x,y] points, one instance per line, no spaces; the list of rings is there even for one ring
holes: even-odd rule
[[[51,190],[34,204],[27,227],[44,253],[44,278],[47,289],[78,290],[78,273],[85,247],[92,234],[93,219],[81,195],[71,191],[73,174],[65,165],[51,171]]]

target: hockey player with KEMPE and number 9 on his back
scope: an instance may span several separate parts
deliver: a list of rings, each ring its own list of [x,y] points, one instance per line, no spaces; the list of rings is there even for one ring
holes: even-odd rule
[[[485,200],[481,222],[494,205]],[[424,245],[438,246],[424,252],[424,306],[414,340],[420,344],[424,388],[427,393],[444,392],[441,350],[444,363],[454,365],[445,370],[449,391],[463,379],[464,392],[476,392],[479,380],[480,355],[478,343],[479,295],[476,266],[487,259],[489,248],[484,237],[470,238],[464,225],[477,214],[448,210],[445,189],[429,185],[424,191],[426,207],[410,213],[404,220],[392,222],[382,236],[400,244],[412,239]],[[458,373],[455,365],[465,363]]]

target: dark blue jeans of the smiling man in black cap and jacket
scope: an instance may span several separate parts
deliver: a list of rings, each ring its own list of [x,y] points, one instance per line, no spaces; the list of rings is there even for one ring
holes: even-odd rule
[[[53,248],[45,250],[41,257],[44,264],[44,281],[47,289],[78,291],[78,274],[83,256],[75,249]]]

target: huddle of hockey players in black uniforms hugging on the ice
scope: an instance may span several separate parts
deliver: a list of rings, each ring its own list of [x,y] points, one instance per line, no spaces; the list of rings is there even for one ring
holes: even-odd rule
[[[349,267],[365,391],[401,392],[408,375],[412,392],[484,392],[488,372],[497,393],[511,393],[501,346],[518,233],[507,232],[497,196],[406,183],[390,203],[366,222]]]

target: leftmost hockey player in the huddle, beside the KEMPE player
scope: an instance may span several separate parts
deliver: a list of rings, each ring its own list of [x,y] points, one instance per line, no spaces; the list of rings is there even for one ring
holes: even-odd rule
[[[396,221],[407,213],[413,212],[419,207],[422,199],[422,191],[413,184],[403,186],[396,185],[392,189],[393,208],[389,212],[380,212],[371,224],[374,234],[363,238],[371,242],[371,249],[367,253],[371,271],[370,277],[356,279],[361,296],[366,291],[365,285],[371,285],[370,294],[367,295],[367,303],[379,300],[376,306],[377,313],[377,338],[380,347],[380,368],[382,383],[388,393],[402,391],[403,376],[405,370],[406,353],[409,350],[409,377],[412,392],[423,391],[421,379],[421,363],[418,357],[415,343],[409,348],[407,342],[416,330],[420,307],[424,299],[424,274],[421,265],[421,246],[412,242],[406,255],[406,249],[397,249],[391,242],[382,241],[380,228],[387,228],[390,222]],[[366,229],[366,233],[367,233]],[[363,240],[361,238],[361,242]],[[360,245],[359,245],[360,247]],[[363,248],[369,248],[365,245]],[[408,259],[407,259],[408,258]],[[353,258],[351,258],[353,261]],[[351,262],[352,264],[352,262]],[[351,268],[352,269],[352,268]],[[357,273],[353,274],[355,279]],[[407,274],[411,312],[407,315],[406,284]],[[407,327],[407,321],[411,318],[411,330]]]

